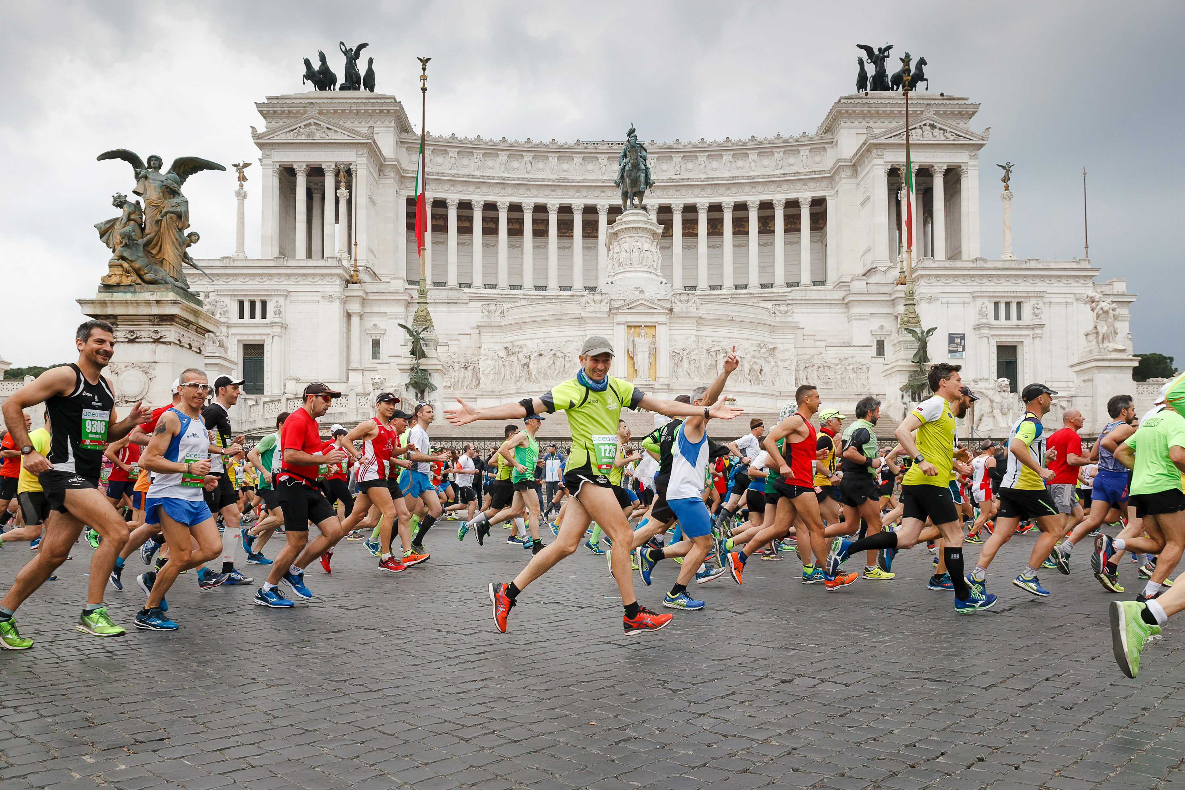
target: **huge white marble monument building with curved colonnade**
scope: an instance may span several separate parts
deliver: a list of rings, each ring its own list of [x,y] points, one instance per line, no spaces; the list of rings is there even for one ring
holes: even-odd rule
[[[953,357],[965,380],[994,393],[976,418],[984,432],[1011,422],[1019,404],[1006,391],[1029,381],[1064,393],[1053,417],[1078,406],[1090,429],[1125,377],[1135,388],[1134,295],[1122,280],[1095,283],[1087,259],[982,258],[981,233],[1000,229],[980,227],[979,105],[927,92],[910,104],[915,282],[922,325],[936,328],[930,359]],[[391,96],[307,92],[257,109],[262,167],[239,205],[261,206],[262,257],[245,257],[241,220],[235,255],[199,261],[216,283],[197,287],[224,319],[211,340],[249,379],[248,422],[267,423],[284,393],[312,380],[354,393],[346,416],[365,411],[373,387],[405,381],[410,361],[398,325],[411,323],[419,277],[418,136]],[[901,94],[844,96],[814,134],[648,142],[660,275],[610,293],[617,263],[603,242],[621,213],[621,144],[428,137],[435,400],[542,392],[572,373],[587,335],[606,334],[615,373],[660,394],[706,381],[736,346],[729,394],[756,412],[808,381],[841,409],[875,393],[899,416],[914,351],[897,329]]]

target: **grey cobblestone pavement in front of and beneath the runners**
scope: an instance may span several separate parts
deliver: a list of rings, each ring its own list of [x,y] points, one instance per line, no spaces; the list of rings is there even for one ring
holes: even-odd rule
[[[1014,539],[989,577],[1000,603],[975,617],[925,590],[923,547],[896,580],[839,592],[802,586],[793,555],[755,560],[743,587],[693,590],[706,611],[629,640],[582,548],[502,635],[485,587],[526,552],[460,545],[447,524],[393,577],[344,545],[292,611],[251,605],[254,587],[199,595],[188,573],[168,596],[180,631],[118,640],[73,630],[79,544],[18,615],[34,648],[0,655],[0,790],[1185,786],[1180,629],[1125,679],[1088,551],[1043,574],[1039,600],[1007,584],[1032,540]],[[0,552],[5,586],[28,555]],[[127,627],[141,569],[108,596]],[[639,584],[642,603],[659,609],[675,571]],[[1134,595],[1135,566],[1121,577]]]

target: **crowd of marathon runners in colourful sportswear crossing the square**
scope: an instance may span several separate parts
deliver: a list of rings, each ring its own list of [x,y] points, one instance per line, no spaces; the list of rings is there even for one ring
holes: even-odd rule
[[[238,547],[267,573],[254,602],[286,609],[314,597],[306,570],[316,563],[331,573],[341,541],[361,542],[379,572],[402,573],[430,559],[425,537],[442,521],[479,546],[501,525],[507,544],[530,552],[518,576],[488,584],[502,632],[524,590],[582,547],[606,557],[627,635],[672,622],[634,591],[635,571],[648,586],[667,559],[679,566],[661,608],[686,611],[706,606],[691,590],[724,577],[742,584],[755,557],[796,555],[802,584],[839,592],[861,580],[892,583],[896,553],[924,545],[934,553],[927,590],[950,593],[956,614],[979,614],[997,602],[987,577],[1000,547],[1029,532],[1025,565],[1005,578],[1030,596],[1057,593],[1038,573],[1070,574],[1084,538],[1089,548],[1078,555],[1090,552],[1107,593],[1126,592],[1120,567],[1130,555],[1142,586],[1133,600],[1109,604],[1115,659],[1130,677],[1148,641],[1185,609],[1185,584],[1170,579],[1185,548],[1185,374],[1142,416],[1130,396],[1110,398],[1112,422],[1087,437],[1089,450],[1077,410],[1064,412],[1059,430],[1046,428],[1057,392],[1043,384],[1021,390],[1024,415],[1007,439],[961,442],[956,420],[976,398],[960,366],[947,362],[929,368],[933,394],[892,439],[877,435],[877,398],[844,415],[802,384],[776,424],[751,418],[739,438],[713,441],[711,420],[744,413],[724,397],[735,355],[715,381],[665,400],[609,375],[613,346],[594,336],[575,378],[546,393],[487,409],[459,400],[444,411],[453,426],[505,423],[505,441],[481,451],[472,443],[434,448],[433,406],[404,411],[391,392],[376,397],[372,418],[325,430],[319,418],[341,393],[320,383],[249,447],[230,418],[242,380],[211,383],[185,370],[172,403],[118,415],[103,377],[115,352],[111,326],[83,323],[76,345],[77,362],[46,371],[4,404],[0,547],[34,551],[0,598],[0,647],[8,650],[32,647],[15,611],[83,537],[94,553],[77,628],[111,637],[126,629],[104,593],[132,582],[127,561],[147,566],[134,579],[146,596],[134,625],[171,631],[178,623],[166,595],[179,574],[194,571],[203,591],[255,584],[235,564]],[[653,412],[653,432],[632,436],[623,410]],[[557,411],[566,412],[570,442],[542,448],[537,432]],[[30,430],[33,413],[44,418],[38,430]],[[277,532],[282,545],[269,559]],[[965,558],[967,545],[979,546],[978,557]],[[853,557],[864,563],[850,571]]]

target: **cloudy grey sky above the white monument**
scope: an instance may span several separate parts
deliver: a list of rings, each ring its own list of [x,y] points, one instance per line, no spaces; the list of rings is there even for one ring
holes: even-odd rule
[[[166,5],[166,4],[160,4]],[[981,102],[982,161],[1017,162],[1018,257],[1082,255],[1082,168],[1100,280],[1140,294],[1136,352],[1185,367],[1179,298],[1185,30],[1179,2],[236,2],[8,4],[0,27],[0,357],[73,358],[73,300],[107,250],[94,223],[132,187],[109,148],[165,161],[256,160],[254,102],[302,90],[301,59],[369,41],[378,90],[416,103],[429,54],[428,129],[536,140],[723,139],[813,131],[854,90],[856,44],[924,56],[931,90]],[[200,6],[200,7],[198,7]],[[602,8],[614,8],[606,13]],[[621,9],[621,11],[617,11]],[[992,168],[994,169],[994,168]],[[248,253],[258,253],[257,168]],[[1000,252],[999,182],[981,178],[982,252]],[[233,251],[233,173],[186,184],[201,242]]]

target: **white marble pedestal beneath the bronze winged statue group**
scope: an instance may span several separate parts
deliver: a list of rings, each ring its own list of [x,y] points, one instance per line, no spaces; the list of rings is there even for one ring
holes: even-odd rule
[[[84,315],[115,326],[115,355],[104,373],[116,404],[162,406],[172,399],[173,379],[187,367],[206,370],[207,361],[216,366],[206,370],[211,384],[233,370],[220,322],[179,288],[101,285],[94,298],[78,304]]]

